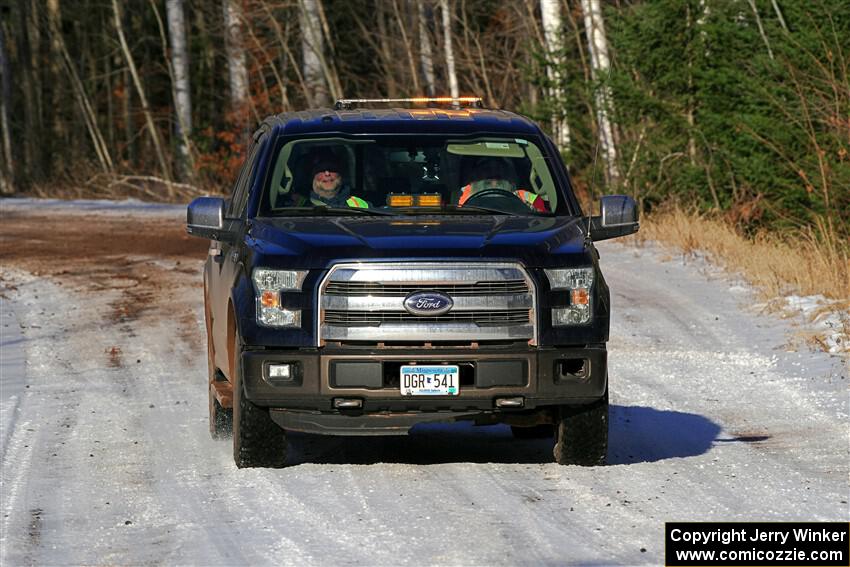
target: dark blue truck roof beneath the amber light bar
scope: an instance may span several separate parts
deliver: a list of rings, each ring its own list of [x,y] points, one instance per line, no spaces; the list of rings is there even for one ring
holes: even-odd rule
[[[477,108],[384,108],[284,112],[266,120],[290,134],[507,134],[540,135],[525,116]]]

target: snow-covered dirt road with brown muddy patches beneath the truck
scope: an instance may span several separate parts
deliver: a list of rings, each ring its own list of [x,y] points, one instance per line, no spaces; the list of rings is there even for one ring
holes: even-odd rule
[[[850,519],[846,361],[707,266],[601,246],[609,466],[430,425],[292,434],[293,466],[237,470],[207,431],[203,248],[152,236],[183,209],[0,213],[0,564],[657,565],[665,521]],[[80,219],[149,250],[79,250]]]

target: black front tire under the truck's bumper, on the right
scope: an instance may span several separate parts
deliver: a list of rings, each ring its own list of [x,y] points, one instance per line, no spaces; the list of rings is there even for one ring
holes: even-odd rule
[[[561,406],[555,422],[555,462],[585,467],[605,464],[608,453],[608,390],[586,406]]]

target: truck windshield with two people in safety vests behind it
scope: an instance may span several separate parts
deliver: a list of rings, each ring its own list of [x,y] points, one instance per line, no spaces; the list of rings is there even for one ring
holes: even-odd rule
[[[261,216],[551,216],[564,201],[537,144],[493,136],[291,140],[261,199]]]

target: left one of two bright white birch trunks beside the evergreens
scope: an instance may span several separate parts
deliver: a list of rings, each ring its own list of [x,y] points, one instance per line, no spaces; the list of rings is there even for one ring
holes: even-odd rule
[[[558,0],[540,0],[540,16],[543,20],[543,37],[546,39],[547,65],[546,76],[551,87],[549,97],[554,102],[552,115],[552,135],[555,144],[561,150],[569,150],[572,142],[570,124],[567,121],[567,101],[563,84],[564,43],[562,39],[561,3]]]

